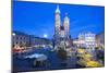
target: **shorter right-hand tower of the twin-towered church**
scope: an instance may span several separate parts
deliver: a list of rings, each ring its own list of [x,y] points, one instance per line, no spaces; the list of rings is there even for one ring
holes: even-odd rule
[[[68,17],[68,13],[65,13],[63,26],[64,26],[65,37],[69,38],[69,36],[70,36],[70,20]]]

